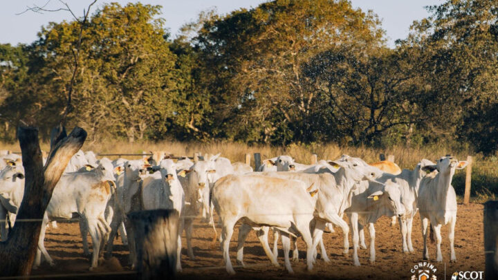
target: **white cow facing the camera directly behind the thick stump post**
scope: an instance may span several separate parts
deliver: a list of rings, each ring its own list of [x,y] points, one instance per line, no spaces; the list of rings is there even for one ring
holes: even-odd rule
[[[160,161],[160,178],[144,178],[142,187],[142,205],[144,210],[175,209],[180,216],[178,227],[178,248],[176,250],[176,271],[181,271],[181,232],[183,232],[183,208],[185,194],[178,177],[173,160]],[[192,248],[190,248],[192,250]]]

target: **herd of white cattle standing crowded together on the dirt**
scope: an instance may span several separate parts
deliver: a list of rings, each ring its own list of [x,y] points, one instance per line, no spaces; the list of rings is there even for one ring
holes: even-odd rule
[[[127,214],[147,209],[176,209],[180,214],[176,270],[181,271],[181,235],[185,230],[187,255],[192,250],[192,222],[198,215],[213,227],[215,240],[223,250],[229,274],[235,271],[230,261],[230,239],[240,222],[237,262],[243,265],[243,243],[251,230],[270,261],[277,263],[277,241],[284,249],[285,267],[298,259],[297,238],[306,243],[306,265],[313,269],[320,245],[321,259],[329,262],[322,241],[326,228],[344,232],[344,251],[349,253],[349,232],[353,242],[353,265],[360,265],[358,248],[367,248],[364,228],[370,234],[369,262],[376,260],[375,227],[381,216],[399,221],[403,252],[413,252],[412,221],[419,212],[422,221],[423,259],[429,259],[427,235],[436,241],[436,261],[441,254],[441,226],[450,224],[448,239],[450,261],[456,261],[453,248],[457,218],[457,198],[451,185],[455,169],[467,162],[451,156],[422,159],[414,169],[401,170],[387,160],[367,164],[361,158],[343,155],[337,160],[320,160],[315,165],[295,162],[291,156],[263,160],[257,171],[241,162],[231,163],[220,154],[205,154],[196,162],[189,158],[174,160],[167,153],[150,158],[127,160],[95,157],[91,151],[78,151],[57,183],[44,215],[34,266],[42,258],[53,260],[44,247],[46,227],[57,227],[55,220],[77,218],[85,254],[90,254],[87,234],[93,243],[91,267],[97,267],[104,251],[111,256],[113,241],[120,234],[129,247],[129,263],[136,265],[133,227]],[[24,195],[24,169],[21,157],[0,151],[0,234],[5,240],[15,223]],[[214,216],[214,213],[217,216]],[[347,221],[343,219],[346,214]],[[52,223],[49,223],[49,222]],[[221,227],[221,235],[216,233]],[[268,232],[273,230],[273,250]],[[430,231],[430,232],[429,232]]]

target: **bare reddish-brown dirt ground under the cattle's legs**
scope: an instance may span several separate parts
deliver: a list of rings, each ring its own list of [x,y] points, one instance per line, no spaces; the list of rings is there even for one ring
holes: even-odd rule
[[[435,245],[429,245],[430,261],[437,268],[438,279],[450,279],[455,271],[483,271],[483,205],[459,205],[457,229],[455,232],[455,251],[457,263],[449,263],[450,250],[448,242],[448,226],[443,227],[443,263],[436,263]],[[236,265],[237,231],[230,243],[230,257]],[[299,239],[299,263],[293,263],[295,274],[288,274],[284,268],[284,257],[279,241],[280,268],[275,268],[264,254],[254,232],[251,232],[244,248],[244,262],[248,268],[234,267],[237,274],[233,277],[225,272],[223,258],[219,246],[212,248],[212,228],[196,220],[194,225],[194,254],[195,260],[188,259],[183,239],[183,272],[178,279],[410,279],[414,265],[422,261],[423,241],[420,218],[414,219],[412,240],[416,252],[404,254],[401,252],[401,235],[398,224],[390,226],[390,219],[380,218],[376,223],[376,263],[369,265],[368,250],[360,250],[360,267],[352,265],[351,254],[342,256],[342,232],[335,227],[335,233],[324,234],[324,243],[329,253],[331,263],[324,263],[321,259],[315,263],[313,272],[306,272],[306,252],[304,242]],[[218,230],[220,232],[220,230]],[[271,235],[271,234],[270,234]],[[351,237],[350,237],[351,239]],[[365,239],[369,245],[369,234],[365,230]],[[270,240],[273,240],[270,236]],[[89,239],[91,242],[91,239]],[[56,265],[50,268],[42,264],[41,268],[33,271],[37,277],[57,278],[85,278],[85,279],[135,279],[136,274],[130,271],[127,265],[127,248],[120,239],[116,241],[114,256],[117,259],[104,261],[98,270],[89,271],[89,260],[84,257],[82,241],[77,223],[59,223],[57,229],[49,228],[46,234],[46,248],[53,257]],[[352,243],[351,243],[352,245]],[[119,262],[119,263],[118,263]],[[446,274],[445,274],[446,270]],[[102,274],[104,273],[104,275]],[[446,277],[445,277],[446,276]]]

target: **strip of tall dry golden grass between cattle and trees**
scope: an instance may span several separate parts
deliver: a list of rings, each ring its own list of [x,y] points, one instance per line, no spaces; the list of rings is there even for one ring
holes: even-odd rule
[[[42,150],[48,151],[49,144],[42,143]],[[19,151],[19,144],[0,143],[0,150]],[[261,153],[261,159],[273,158],[279,155],[289,155],[295,158],[296,162],[305,164],[311,163],[311,155],[317,154],[318,159],[332,160],[339,158],[342,154],[357,156],[367,162],[379,160],[379,154],[394,155],[395,162],[401,168],[412,169],[422,158],[435,160],[446,154],[456,156],[459,160],[465,160],[470,153],[465,150],[452,149],[446,145],[432,145],[419,148],[394,146],[388,149],[374,149],[370,147],[339,147],[336,144],[290,144],[286,147],[273,147],[269,145],[255,145],[237,142],[136,142],[128,143],[124,141],[103,141],[93,144],[85,144],[83,149],[95,151],[95,153],[149,153],[149,151],[167,151],[175,156],[192,156],[195,152],[201,153],[221,153],[232,162],[243,162],[246,153]],[[474,201],[485,201],[495,198],[498,194],[498,157],[482,155],[474,156],[472,166],[472,196]],[[138,158],[140,156],[126,156],[124,158]],[[109,156],[118,158],[118,156]],[[251,162],[254,167],[254,162]],[[463,195],[465,185],[465,172],[458,171],[454,176],[453,185],[457,194]]]

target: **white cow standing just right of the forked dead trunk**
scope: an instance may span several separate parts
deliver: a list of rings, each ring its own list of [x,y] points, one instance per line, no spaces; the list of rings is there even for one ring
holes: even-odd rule
[[[80,230],[86,237],[89,230],[93,242],[93,256],[90,270],[98,265],[100,246],[111,228],[105,221],[104,212],[111,192],[116,185],[112,173],[112,165],[102,162],[92,171],[63,174],[53,190],[52,198],[45,212],[42,232],[40,232],[37,256],[34,267],[45,259],[53,265],[53,260],[46,252],[44,239],[46,223],[52,218],[73,218],[73,213],[80,216]],[[109,185],[109,182],[111,185]],[[86,238],[83,245],[88,246]],[[85,244],[86,243],[86,244]]]

